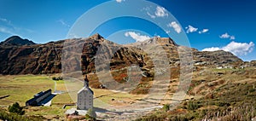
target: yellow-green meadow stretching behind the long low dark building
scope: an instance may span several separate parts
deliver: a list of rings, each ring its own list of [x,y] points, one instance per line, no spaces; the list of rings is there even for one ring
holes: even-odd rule
[[[1,96],[9,95],[0,100],[1,106],[9,106],[16,101],[25,106],[25,102],[39,91],[54,89],[54,82],[48,76],[0,76],[0,89]]]

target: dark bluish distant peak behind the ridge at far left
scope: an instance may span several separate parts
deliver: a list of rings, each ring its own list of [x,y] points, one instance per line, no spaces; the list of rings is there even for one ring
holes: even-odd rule
[[[7,38],[5,41],[1,42],[0,45],[33,45],[32,41],[28,39],[23,39],[19,36],[12,36]]]

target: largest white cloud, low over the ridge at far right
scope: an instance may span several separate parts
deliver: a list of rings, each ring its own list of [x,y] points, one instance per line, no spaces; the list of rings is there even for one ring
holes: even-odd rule
[[[228,45],[224,46],[223,48],[212,47],[207,49],[202,49],[202,51],[216,51],[216,50],[224,50],[231,52],[234,55],[247,55],[248,53],[253,52],[254,43],[236,43],[232,41]]]

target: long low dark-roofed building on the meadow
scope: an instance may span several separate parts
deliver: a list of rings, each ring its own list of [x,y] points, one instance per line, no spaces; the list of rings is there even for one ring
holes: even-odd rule
[[[34,95],[34,97],[28,101],[26,101],[26,106],[41,106],[41,101],[48,98],[51,95],[51,89],[46,91],[41,91],[38,94]]]

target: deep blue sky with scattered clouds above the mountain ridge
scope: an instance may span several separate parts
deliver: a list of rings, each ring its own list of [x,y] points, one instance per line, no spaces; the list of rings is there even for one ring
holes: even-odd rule
[[[133,1],[134,6],[130,5],[128,9],[119,6],[130,1]],[[130,14],[134,14],[134,8],[141,5],[144,5],[141,9],[143,17],[122,16],[106,20],[90,33],[90,25],[94,24],[87,23],[84,26],[88,28],[79,29],[79,37],[88,37],[94,32],[99,32],[103,37],[115,39],[113,41],[117,43],[133,43],[148,37],[171,35],[170,37],[176,38],[175,41],[180,43],[179,39],[183,38],[179,36],[186,34],[190,46],[195,49],[224,49],[238,55],[242,60],[256,60],[256,1],[148,0],[155,3],[153,5],[139,1],[0,0],[0,41],[12,35],[28,38],[35,43],[72,37],[68,33],[73,32],[71,30],[79,23],[79,17],[83,18],[82,14],[88,14],[91,9],[108,2],[112,3],[113,7],[102,6],[102,9],[98,9],[102,14],[90,14],[90,23],[115,11],[122,13],[129,10]],[[169,24],[164,29],[158,25],[165,22]]]

